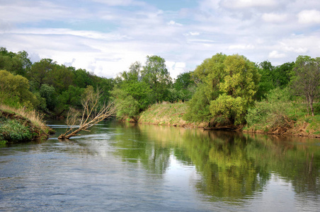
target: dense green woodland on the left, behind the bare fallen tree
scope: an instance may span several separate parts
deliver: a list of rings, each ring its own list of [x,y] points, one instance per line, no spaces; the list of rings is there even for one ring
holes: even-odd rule
[[[39,110],[52,117],[65,115],[69,108],[81,107],[85,88],[101,88],[110,98],[113,79],[102,78],[84,69],[59,65],[52,59],[31,63],[28,53],[0,48],[0,103]]]

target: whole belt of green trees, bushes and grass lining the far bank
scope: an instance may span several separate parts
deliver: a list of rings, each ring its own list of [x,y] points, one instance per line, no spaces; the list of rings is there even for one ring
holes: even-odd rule
[[[147,56],[103,78],[52,59],[32,63],[27,52],[1,47],[0,70],[2,105],[50,118],[81,111],[91,89],[102,91],[100,105],[114,102],[118,119],[130,122],[320,135],[319,58],[273,66],[219,53],[172,79],[163,58]]]

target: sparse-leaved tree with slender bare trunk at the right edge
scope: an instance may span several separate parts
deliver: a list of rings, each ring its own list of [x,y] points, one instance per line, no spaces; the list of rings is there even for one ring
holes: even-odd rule
[[[320,94],[320,57],[311,58],[299,56],[292,69],[291,86],[295,95],[299,95],[307,101],[309,109],[314,116],[314,100]]]

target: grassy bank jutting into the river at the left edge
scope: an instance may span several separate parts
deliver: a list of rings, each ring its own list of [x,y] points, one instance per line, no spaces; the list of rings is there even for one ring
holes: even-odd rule
[[[0,143],[47,139],[52,130],[35,111],[0,105]]]

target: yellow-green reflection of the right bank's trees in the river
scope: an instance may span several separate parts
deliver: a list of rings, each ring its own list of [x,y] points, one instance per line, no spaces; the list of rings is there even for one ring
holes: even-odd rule
[[[172,148],[178,160],[194,164],[201,175],[195,187],[212,201],[241,203],[261,194],[276,175],[290,182],[298,197],[319,198],[317,139],[148,125],[139,125],[139,131],[156,149]]]

